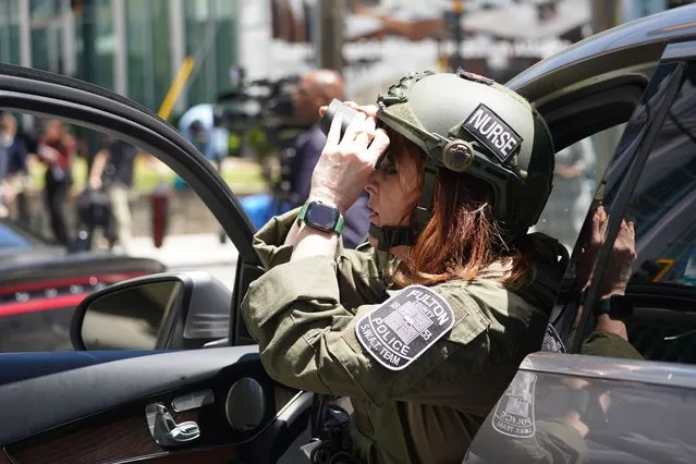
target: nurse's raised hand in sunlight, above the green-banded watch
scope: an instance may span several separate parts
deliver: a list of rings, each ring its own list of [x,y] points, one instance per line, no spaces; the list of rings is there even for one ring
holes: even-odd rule
[[[312,176],[310,200],[332,204],[342,213],[355,203],[389,146],[387,133],[375,127],[375,117],[359,112],[341,138],[341,115],[337,114]]]

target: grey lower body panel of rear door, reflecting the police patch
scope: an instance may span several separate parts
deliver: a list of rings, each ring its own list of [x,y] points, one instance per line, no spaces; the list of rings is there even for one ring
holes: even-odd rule
[[[520,370],[463,463],[691,462],[693,432],[684,424],[696,414],[694,390],[646,388],[625,379],[639,367],[591,361],[562,359],[561,373]]]

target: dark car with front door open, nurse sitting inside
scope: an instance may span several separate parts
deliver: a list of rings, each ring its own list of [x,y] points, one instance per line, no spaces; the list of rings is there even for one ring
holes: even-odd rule
[[[612,127],[623,133],[613,155],[597,157],[595,179],[610,220],[595,272],[606,270],[620,221],[634,218],[627,326],[646,361],[577,354],[593,320],[579,312],[569,266],[551,320],[566,352],[525,358],[464,462],[693,461],[695,84],[696,5],[591,37],[509,83],[545,115],[559,151]],[[0,65],[0,108],[70,119],[146,147],[199,194],[239,249],[232,293],[205,272],[161,273],[80,305],[72,327],[77,349],[136,350],[0,355],[7,460],[286,457],[308,416],[316,417],[316,403],[266,375],[245,330],[240,302],[262,269],[254,228],[220,175],[148,109],[75,80]],[[578,236],[577,246],[586,239]],[[587,289],[585,306],[597,300],[597,286]],[[221,338],[219,322],[228,319]]]

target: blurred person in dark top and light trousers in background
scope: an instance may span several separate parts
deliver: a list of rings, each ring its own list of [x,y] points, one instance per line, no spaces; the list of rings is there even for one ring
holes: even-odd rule
[[[89,170],[89,187],[103,188],[111,200],[115,220],[111,244],[119,243],[126,251],[133,237],[133,220],[129,197],[133,188],[133,168],[137,149],[126,142],[108,136],[101,150],[95,156]]]

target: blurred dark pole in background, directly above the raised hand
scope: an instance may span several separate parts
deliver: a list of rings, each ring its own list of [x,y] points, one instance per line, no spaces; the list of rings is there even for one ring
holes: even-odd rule
[[[343,34],[346,9],[343,0],[319,0],[319,30],[315,40],[319,68],[343,73]]]

